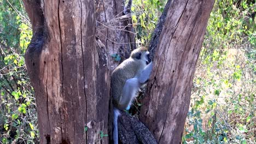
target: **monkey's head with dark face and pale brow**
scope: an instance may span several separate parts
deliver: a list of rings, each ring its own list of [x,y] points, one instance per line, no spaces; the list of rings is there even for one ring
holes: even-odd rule
[[[131,52],[131,58],[149,63],[149,51],[147,47],[140,47]]]

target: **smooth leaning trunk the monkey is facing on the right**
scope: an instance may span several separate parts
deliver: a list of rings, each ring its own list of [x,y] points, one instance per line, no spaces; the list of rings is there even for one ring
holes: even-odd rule
[[[190,92],[214,0],[173,0],[158,41],[140,120],[159,143],[180,143]]]

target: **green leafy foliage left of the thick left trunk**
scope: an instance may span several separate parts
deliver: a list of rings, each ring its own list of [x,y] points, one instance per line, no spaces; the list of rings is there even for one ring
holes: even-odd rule
[[[38,143],[24,54],[32,31],[22,1],[0,0],[0,143]]]

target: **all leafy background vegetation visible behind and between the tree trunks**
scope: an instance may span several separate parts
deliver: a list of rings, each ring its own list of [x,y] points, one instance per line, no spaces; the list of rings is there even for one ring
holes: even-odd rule
[[[165,0],[133,0],[147,45]],[[183,143],[256,143],[255,1],[216,1],[194,77]],[[24,55],[32,37],[21,0],[0,0],[0,143],[39,143]],[[141,104],[137,104],[139,106]]]

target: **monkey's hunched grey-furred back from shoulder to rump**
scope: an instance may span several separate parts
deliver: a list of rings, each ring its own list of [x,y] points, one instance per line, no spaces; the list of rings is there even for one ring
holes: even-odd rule
[[[122,97],[122,91],[125,81],[131,79],[139,73],[146,64],[138,62],[132,58],[126,59],[124,62],[118,65],[117,68],[111,74],[111,92],[113,97],[113,102],[115,106],[118,106],[120,98]],[[118,107],[120,109],[120,107]]]

